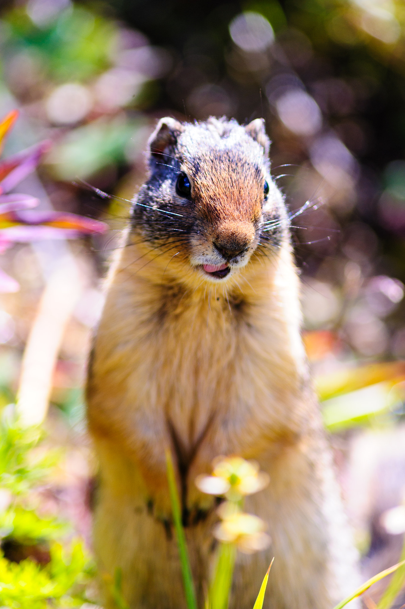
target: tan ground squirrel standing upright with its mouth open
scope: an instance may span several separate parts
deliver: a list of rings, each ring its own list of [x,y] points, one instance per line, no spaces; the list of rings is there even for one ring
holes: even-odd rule
[[[268,523],[272,544],[238,555],[230,607],[253,607],[275,556],[265,607],[331,609],[356,587],[356,553],[300,337],[264,122],[164,118],[149,146],[89,365],[100,574],[122,569],[131,609],[185,607],[168,446],[202,607],[216,515],[194,481],[214,457],[236,454],[270,476],[246,509]]]

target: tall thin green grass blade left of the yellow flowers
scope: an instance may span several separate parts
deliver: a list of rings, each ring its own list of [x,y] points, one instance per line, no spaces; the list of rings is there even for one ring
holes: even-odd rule
[[[179,495],[176,487],[175,470],[173,469],[173,460],[168,449],[166,449],[166,466],[167,466],[167,481],[170,491],[171,512],[173,513],[173,522],[175,523],[175,531],[177,543],[179,546],[181,572],[184,582],[185,600],[188,609],[197,609],[197,601],[194,590],[194,582],[190,567],[189,552],[185,543],[184,529],[181,522],[181,510]]]

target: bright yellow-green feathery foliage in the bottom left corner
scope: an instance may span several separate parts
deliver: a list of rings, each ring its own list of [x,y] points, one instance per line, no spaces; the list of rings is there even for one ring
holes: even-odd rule
[[[0,490],[9,493],[9,507],[0,511],[0,540],[30,549],[46,548],[46,565],[32,558],[14,562],[0,554],[0,606],[11,609],[80,607],[94,568],[81,541],[69,549],[63,539],[67,527],[43,518],[29,505],[29,491],[49,471],[54,457],[34,459],[41,440],[38,428],[23,428],[7,407],[0,420]],[[49,557],[47,549],[49,548]],[[34,552],[35,554],[35,552]],[[22,552],[24,555],[24,552]]]

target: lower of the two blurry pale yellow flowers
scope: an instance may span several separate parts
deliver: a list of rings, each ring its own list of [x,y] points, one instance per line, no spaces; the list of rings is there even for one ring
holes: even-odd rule
[[[235,511],[235,507],[229,502],[221,505],[218,512],[223,521],[215,527],[216,539],[223,543],[235,544],[245,554],[252,554],[269,546],[271,538],[265,533],[266,523],[261,518]]]

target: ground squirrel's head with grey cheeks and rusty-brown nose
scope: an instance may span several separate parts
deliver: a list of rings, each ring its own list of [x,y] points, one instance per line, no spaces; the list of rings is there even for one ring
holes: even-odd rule
[[[278,247],[288,219],[271,180],[263,119],[241,126],[210,118],[159,121],[149,140],[150,174],[134,202],[133,230],[154,256],[184,262],[187,275],[230,281]],[[160,250],[160,253],[157,253]]]

